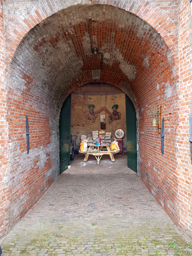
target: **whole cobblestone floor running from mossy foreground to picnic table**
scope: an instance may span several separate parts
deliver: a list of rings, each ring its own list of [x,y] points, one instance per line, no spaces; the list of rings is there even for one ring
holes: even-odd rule
[[[75,156],[0,242],[2,256],[192,255],[126,155]]]

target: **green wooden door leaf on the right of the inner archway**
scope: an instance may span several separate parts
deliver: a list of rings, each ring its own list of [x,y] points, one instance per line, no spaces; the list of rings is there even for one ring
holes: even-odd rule
[[[137,118],[132,101],[125,94],[127,125],[127,166],[137,172]]]

